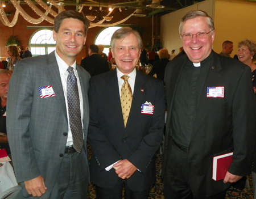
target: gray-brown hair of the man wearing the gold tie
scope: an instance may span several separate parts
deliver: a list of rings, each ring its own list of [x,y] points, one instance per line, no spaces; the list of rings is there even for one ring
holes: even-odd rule
[[[133,34],[137,38],[138,43],[139,43],[139,48],[141,49],[143,47],[143,42],[142,42],[141,36],[139,35],[139,33],[137,31],[134,31],[134,29],[131,29],[130,27],[124,27],[124,28],[117,29],[113,33],[113,35],[111,37],[111,41],[110,41],[111,48],[114,49],[115,40],[124,39],[125,37],[127,37],[131,34]]]

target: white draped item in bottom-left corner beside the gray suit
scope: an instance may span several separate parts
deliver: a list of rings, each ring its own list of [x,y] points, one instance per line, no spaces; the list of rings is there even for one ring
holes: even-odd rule
[[[18,185],[14,176],[13,167],[9,162],[4,162],[0,167],[0,194],[5,190]]]

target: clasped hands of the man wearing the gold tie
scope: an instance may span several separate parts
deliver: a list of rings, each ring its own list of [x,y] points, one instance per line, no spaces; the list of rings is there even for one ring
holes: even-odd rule
[[[137,168],[129,162],[129,160],[120,160],[118,163],[114,164],[113,168],[115,169],[115,173],[117,173],[118,177],[121,179],[129,179],[133,175]]]

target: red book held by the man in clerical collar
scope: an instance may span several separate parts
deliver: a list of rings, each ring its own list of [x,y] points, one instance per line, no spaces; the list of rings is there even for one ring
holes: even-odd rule
[[[212,179],[223,180],[231,163],[233,162],[233,152],[213,157]]]

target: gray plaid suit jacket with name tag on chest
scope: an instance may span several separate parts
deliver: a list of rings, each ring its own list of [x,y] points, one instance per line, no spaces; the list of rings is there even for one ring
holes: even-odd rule
[[[76,68],[84,100],[86,145],[90,75],[82,67]],[[39,87],[44,86],[52,86],[56,96],[40,98]],[[68,133],[65,98],[54,52],[16,64],[7,104],[7,132],[16,179],[20,183],[41,175],[51,193],[63,161]]]

